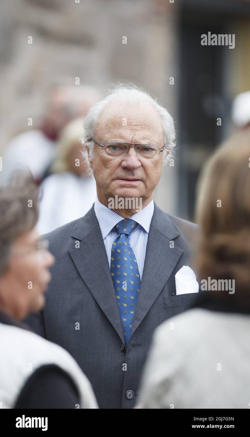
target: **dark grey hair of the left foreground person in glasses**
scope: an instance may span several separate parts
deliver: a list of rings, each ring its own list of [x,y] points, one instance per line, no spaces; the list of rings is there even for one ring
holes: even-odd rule
[[[31,173],[15,172],[9,184],[0,188],[0,276],[8,266],[14,240],[34,228],[38,215],[38,188]]]

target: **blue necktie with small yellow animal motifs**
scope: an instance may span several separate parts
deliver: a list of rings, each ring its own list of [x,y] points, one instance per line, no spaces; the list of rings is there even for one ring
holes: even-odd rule
[[[118,233],[111,249],[110,271],[125,334],[126,346],[130,338],[141,278],[130,234],[137,226],[131,218],[124,218],[114,229]]]

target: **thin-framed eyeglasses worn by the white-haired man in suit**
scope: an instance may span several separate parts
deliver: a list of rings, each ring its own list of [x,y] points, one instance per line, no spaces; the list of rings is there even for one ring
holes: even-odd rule
[[[94,138],[91,138],[90,140],[102,147],[105,155],[113,158],[119,158],[120,156],[126,155],[129,152],[131,145],[133,145],[132,147],[134,147],[137,156],[151,160],[158,159],[160,153],[165,149],[165,146],[163,149],[160,149],[153,144],[141,144],[137,142],[126,143],[120,141],[106,141],[103,144],[100,144],[98,141],[95,141]]]

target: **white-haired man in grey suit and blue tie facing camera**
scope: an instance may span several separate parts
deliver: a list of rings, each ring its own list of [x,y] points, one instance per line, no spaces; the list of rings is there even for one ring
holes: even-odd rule
[[[189,263],[197,225],[153,201],[175,133],[148,94],[116,87],[90,109],[84,135],[97,199],[46,234],[53,278],[45,309],[27,323],[72,354],[100,408],[133,408],[154,329],[193,302],[195,293],[176,295],[175,274]],[[116,196],[141,199],[141,211],[110,209]]]

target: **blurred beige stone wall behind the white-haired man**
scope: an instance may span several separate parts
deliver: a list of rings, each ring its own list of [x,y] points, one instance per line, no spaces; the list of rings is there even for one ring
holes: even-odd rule
[[[50,84],[74,84],[77,76],[103,91],[131,81],[175,118],[169,77],[176,73],[177,8],[163,0],[1,0],[0,149],[28,128],[29,117],[39,125]],[[162,207],[173,212],[174,191],[160,194],[167,174],[157,191]]]

